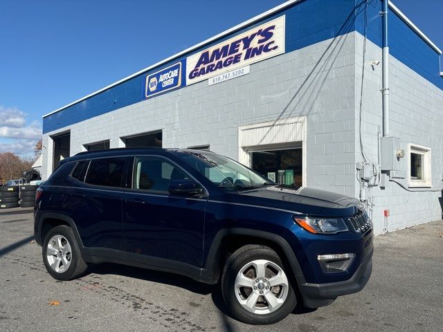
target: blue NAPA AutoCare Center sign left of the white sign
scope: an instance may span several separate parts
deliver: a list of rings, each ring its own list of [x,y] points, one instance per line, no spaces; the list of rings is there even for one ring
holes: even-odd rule
[[[184,86],[182,67],[182,62],[177,62],[177,64],[163,68],[161,71],[147,75],[143,84],[145,98]]]

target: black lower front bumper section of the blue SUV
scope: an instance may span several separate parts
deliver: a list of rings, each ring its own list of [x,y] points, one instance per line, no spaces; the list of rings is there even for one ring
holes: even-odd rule
[[[328,284],[305,283],[300,285],[305,306],[318,308],[334,302],[336,297],[361,291],[368,283],[372,272],[372,251],[365,257],[354,275],[343,282],[331,282]]]

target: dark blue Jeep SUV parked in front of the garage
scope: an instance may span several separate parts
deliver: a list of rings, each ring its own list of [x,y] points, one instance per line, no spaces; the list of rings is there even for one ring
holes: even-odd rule
[[[359,201],[277,185],[209,151],[82,152],[36,197],[35,239],[55,279],[101,262],[179,273],[219,283],[250,324],[361,291],[372,270],[372,223]]]

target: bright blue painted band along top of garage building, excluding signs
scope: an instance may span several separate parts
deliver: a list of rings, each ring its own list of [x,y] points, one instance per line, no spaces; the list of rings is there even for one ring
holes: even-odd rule
[[[381,46],[380,10],[381,2],[379,0],[369,0],[368,39],[379,46]],[[300,1],[280,12],[275,12],[270,17],[256,24],[246,26],[242,30],[218,39],[212,44],[199,48],[192,53],[198,53],[210,45],[218,44],[237,33],[242,33],[281,15],[286,15],[286,52],[291,52],[354,30],[359,31],[363,35],[365,31],[363,14],[363,0]],[[392,55],[419,73],[419,75],[443,89],[443,79],[438,75],[439,56],[435,53],[435,50],[428,46],[413,30],[410,30],[397,15],[390,15],[389,25]],[[192,53],[183,55],[180,59],[184,59]],[[179,59],[174,59],[167,64],[163,64],[163,66],[159,66],[159,68],[154,68],[148,73],[133,77],[131,80],[118,84],[118,86],[114,86],[107,91],[103,91],[98,95],[94,95],[87,100],[78,102],[71,107],[44,118],[43,133],[141,102],[144,99],[142,92],[144,77],[177,61]]]

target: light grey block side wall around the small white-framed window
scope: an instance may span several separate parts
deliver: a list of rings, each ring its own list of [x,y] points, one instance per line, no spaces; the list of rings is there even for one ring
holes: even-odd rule
[[[356,119],[359,117],[359,93],[363,59],[363,36],[356,34]],[[381,70],[382,64],[370,66],[372,60],[381,61],[381,48],[370,41],[366,44],[365,80],[363,83],[362,136],[363,148],[374,163],[378,163],[377,132],[382,126]],[[385,188],[374,187],[374,231],[383,232],[383,211],[389,210],[388,231],[408,228],[419,223],[442,219],[443,174],[443,91],[408,66],[390,57],[390,136],[400,139],[405,157],[400,160],[399,176],[395,181],[408,187],[408,143],[431,147],[432,187],[408,188],[390,182]],[[358,139],[358,138],[356,138]],[[359,142],[357,140],[357,142]],[[356,149],[360,151],[359,144]],[[361,161],[361,155],[357,155]],[[415,192],[419,190],[419,192]]]

